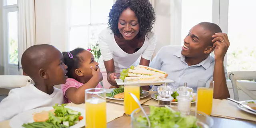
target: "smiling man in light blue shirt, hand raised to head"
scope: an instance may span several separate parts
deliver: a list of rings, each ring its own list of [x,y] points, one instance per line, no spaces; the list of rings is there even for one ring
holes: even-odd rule
[[[167,72],[173,88],[188,83],[197,88],[198,80],[214,81],[214,98],[230,97],[226,84],[227,72],[224,68],[224,56],[229,47],[227,34],[214,23],[202,22],[191,28],[184,39],[184,46],[174,48],[164,46],[150,63],[150,67]],[[214,55],[210,53],[214,51]],[[157,86],[154,86],[157,91]]]

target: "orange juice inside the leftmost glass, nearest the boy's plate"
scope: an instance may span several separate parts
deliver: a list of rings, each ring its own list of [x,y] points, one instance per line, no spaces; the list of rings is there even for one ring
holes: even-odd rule
[[[91,98],[85,103],[86,128],[107,128],[106,100]]]

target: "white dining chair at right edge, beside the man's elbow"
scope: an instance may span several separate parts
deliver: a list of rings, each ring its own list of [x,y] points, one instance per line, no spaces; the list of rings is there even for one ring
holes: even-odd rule
[[[256,80],[255,71],[237,71],[237,72],[228,72],[228,78],[230,78],[233,92],[234,100],[239,101],[238,88],[240,88],[246,95],[248,95],[253,100],[256,100],[256,95],[248,90],[245,85],[252,85],[256,88],[256,82],[241,82],[238,80]]]

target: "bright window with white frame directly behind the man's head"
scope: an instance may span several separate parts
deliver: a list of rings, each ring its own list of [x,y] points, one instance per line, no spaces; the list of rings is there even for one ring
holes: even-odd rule
[[[183,45],[184,38],[196,24],[212,22],[215,1],[171,0],[171,45]]]

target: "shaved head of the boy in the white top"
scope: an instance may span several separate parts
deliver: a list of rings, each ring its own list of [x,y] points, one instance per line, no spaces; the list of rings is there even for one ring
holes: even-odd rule
[[[22,54],[21,65],[34,86],[47,94],[52,94],[53,86],[65,84],[68,78],[62,53],[52,45],[31,46]]]

